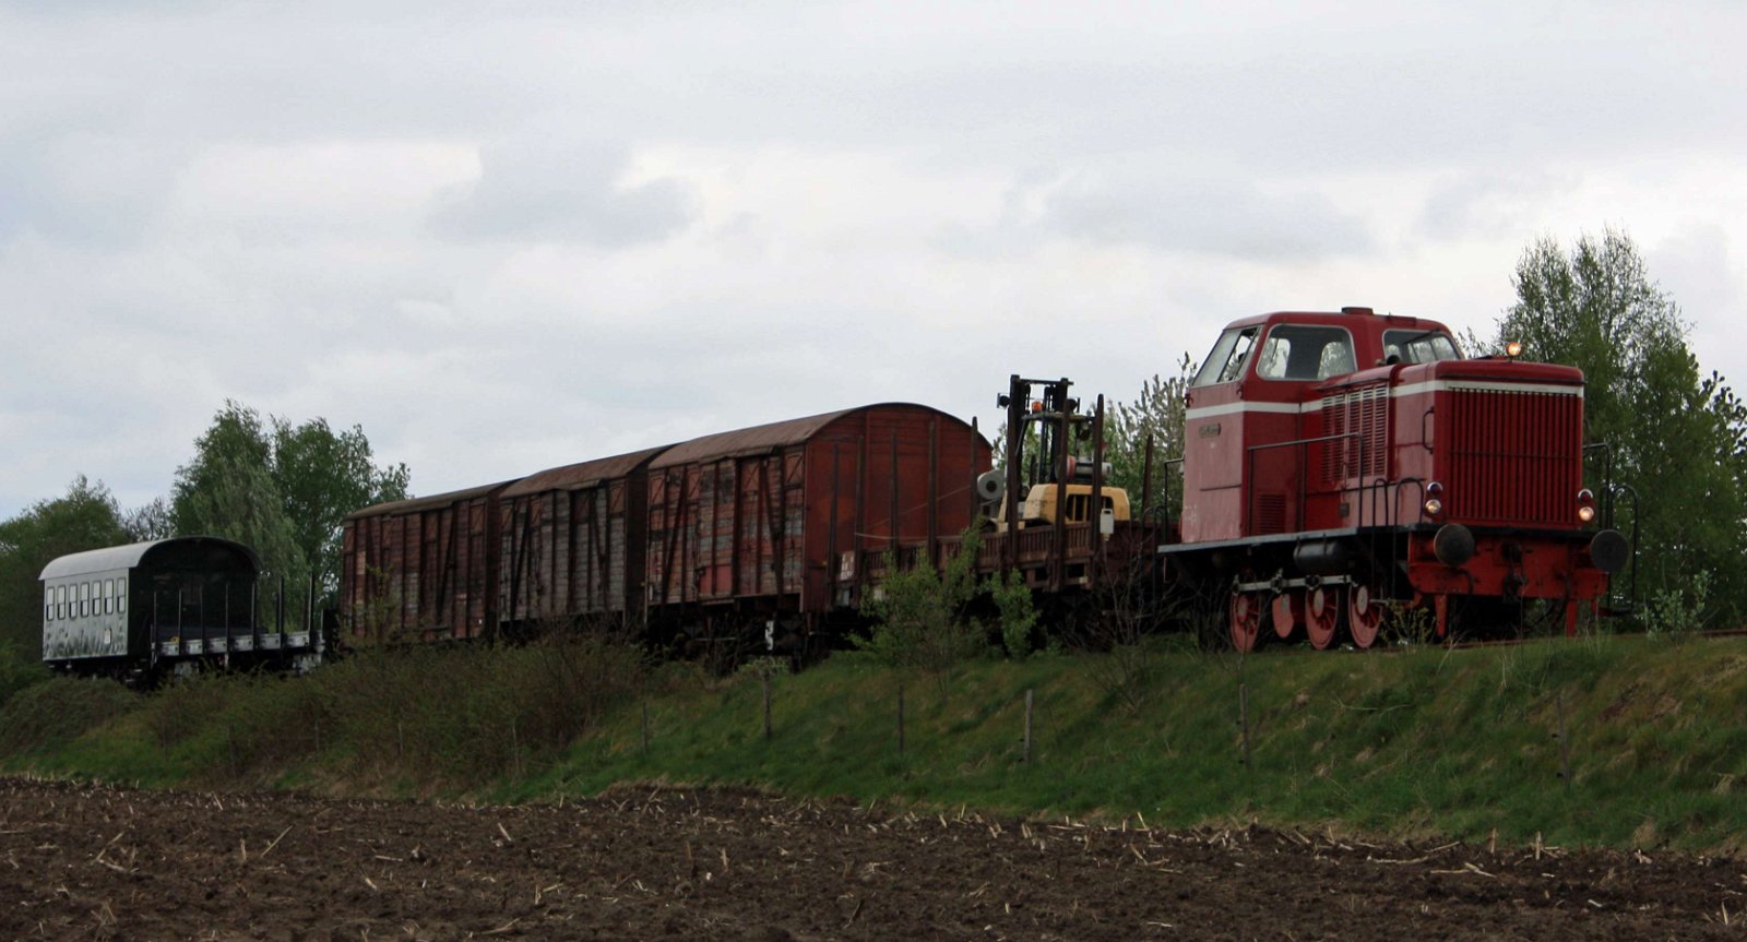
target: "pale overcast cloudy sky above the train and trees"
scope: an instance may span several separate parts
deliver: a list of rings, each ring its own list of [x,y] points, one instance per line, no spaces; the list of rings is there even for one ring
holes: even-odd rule
[[[225,400],[432,495],[1630,234],[1747,384],[1747,3],[0,0],[0,519]]]

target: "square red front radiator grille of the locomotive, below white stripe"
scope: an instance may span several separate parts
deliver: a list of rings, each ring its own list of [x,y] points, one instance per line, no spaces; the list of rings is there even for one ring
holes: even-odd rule
[[[1454,519],[1569,524],[1583,486],[1583,398],[1569,393],[1450,393]]]

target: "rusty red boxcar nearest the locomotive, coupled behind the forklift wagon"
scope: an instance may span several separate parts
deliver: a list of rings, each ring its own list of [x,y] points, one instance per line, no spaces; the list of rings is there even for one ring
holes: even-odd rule
[[[809,634],[867,556],[971,524],[975,426],[879,404],[706,435],[650,463],[650,619],[667,631]]]

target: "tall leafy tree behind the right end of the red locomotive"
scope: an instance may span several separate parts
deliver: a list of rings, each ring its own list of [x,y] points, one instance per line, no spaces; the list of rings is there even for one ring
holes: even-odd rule
[[[1679,306],[1614,229],[1569,253],[1536,241],[1513,285],[1492,346],[1518,339],[1527,357],[1583,371],[1588,440],[1609,444],[1612,479],[1642,500],[1639,598],[1710,570],[1710,598],[1733,615],[1747,591],[1747,409],[1721,376],[1700,381]]]

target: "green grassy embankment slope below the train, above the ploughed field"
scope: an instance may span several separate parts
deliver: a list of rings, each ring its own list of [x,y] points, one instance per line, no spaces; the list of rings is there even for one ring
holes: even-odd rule
[[[192,685],[196,692],[131,706],[107,699],[96,717],[110,718],[82,736],[21,741],[17,727],[31,724],[17,713],[31,710],[33,689],[7,704],[12,717],[0,715],[0,748],[10,750],[12,769],[150,785],[321,783],[341,792],[466,790],[503,800],[597,792],[617,781],[751,783],[1025,814],[1139,813],[1169,825],[1261,820],[1467,839],[1495,828],[1511,842],[1541,834],[1555,844],[1747,853],[1747,802],[1738,793],[1747,778],[1742,638],[1282,650],[1249,659],[1162,652],[1137,690],[1137,708],[1099,680],[1109,666],[1108,657],[1036,657],[968,664],[943,682],[910,675],[903,755],[900,675],[853,657],[772,680],[769,743],[758,676],[669,682],[664,694],[606,713],[568,750],[475,748],[470,769],[491,774],[473,774],[466,785],[452,772],[444,778],[445,765],[433,765],[423,750],[419,765],[383,757],[416,752],[386,745],[405,736],[461,741],[466,713],[409,718],[416,725],[390,738],[381,722],[348,727],[330,715],[327,741],[318,743],[309,717],[323,703],[346,708],[325,687],[299,687],[309,680]],[[1240,685],[1249,703],[1249,767]],[[1029,765],[1022,762],[1027,689],[1034,692]],[[1565,743],[1557,738],[1560,713]],[[213,722],[182,729],[189,715]],[[360,732],[365,727],[377,731],[374,739]],[[280,741],[283,729],[295,729],[302,745]],[[1569,783],[1560,776],[1562,746],[1569,746]]]

